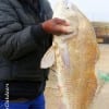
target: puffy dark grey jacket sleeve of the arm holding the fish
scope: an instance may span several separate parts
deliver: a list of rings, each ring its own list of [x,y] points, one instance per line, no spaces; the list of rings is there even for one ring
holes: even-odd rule
[[[8,0],[0,0],[0,56],[15,60],[41,49],[39,41],[47,35],[41,25],[23,28],[14,9],[5,1]]]

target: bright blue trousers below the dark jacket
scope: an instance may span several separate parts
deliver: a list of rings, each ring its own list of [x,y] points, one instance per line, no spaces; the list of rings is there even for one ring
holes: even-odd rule
[[[22,102],[8,102],[7,100],[0,100],[0,109],[45,109],[45,97],[43,94],[34,100]]]

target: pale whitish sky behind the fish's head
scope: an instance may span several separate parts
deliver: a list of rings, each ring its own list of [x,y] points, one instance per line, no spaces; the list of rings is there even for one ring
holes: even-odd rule
[[[57,0],[49,0],[53,8]],[[109,0],[69,0],[90,20],[109,22]]]

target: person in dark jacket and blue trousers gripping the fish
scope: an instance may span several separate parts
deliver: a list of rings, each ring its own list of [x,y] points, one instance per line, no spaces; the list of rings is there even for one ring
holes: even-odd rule
[[[70,24],[51,19],[47,0],[0,0],[0,109],[45,109],[49,69],[40,59],[52,35],[70,34]]]

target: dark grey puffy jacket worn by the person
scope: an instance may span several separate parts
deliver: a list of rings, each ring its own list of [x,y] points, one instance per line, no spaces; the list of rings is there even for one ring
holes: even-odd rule
[[[51,19],[52,10],[47,0],[34,0],[39,2],[37,8],[25,1],[0,0],[0,81],[3,82],[43,82],[48,76],[48,69],[41,70],[39,63],[52,37],[40,23]]]

